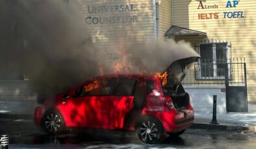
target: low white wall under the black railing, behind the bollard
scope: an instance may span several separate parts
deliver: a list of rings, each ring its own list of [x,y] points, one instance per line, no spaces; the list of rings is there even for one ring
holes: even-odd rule
[[[212,113],[213,95],[217,95],[217,113],[226,112],[225,86],[184,86],[195,111]]]

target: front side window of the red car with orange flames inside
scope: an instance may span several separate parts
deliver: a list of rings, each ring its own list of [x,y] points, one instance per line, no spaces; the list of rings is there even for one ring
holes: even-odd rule
[[[101,78],[81,87],[77,93],[78,97],[111,95],[115,86],[115,78]]]

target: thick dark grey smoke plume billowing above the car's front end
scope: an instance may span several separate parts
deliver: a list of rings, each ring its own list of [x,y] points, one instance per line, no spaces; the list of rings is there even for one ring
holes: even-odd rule
[[[6,58],[10,69],[32,78],[31,88],[39,98],[60,93],[97,74],[97,50],[80,19],[83,17],[70,3],[49,0],[1,3],[5,12],[2,18],[10,18],[1,21],[6,22],[1,26],[14,28],[13,34],[6,32],[12,37],[1,37],[8,42],[1,48],[1,56]]]

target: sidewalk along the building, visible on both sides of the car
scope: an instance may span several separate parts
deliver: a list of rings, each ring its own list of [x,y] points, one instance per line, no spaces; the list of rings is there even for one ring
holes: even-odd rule
[[[36,102],[0,101],[0,119],[33,119]],[[248,113],[217,113],[219,124],[210,124],[212,113],[196,112],[194,129],[256,132],[256,104],[248,103]]]

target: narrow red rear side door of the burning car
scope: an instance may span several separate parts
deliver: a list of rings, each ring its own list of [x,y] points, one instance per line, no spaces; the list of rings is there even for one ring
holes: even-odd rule
[[[123,128],[125,116],[133,108],[134,86],[133,78],[118,78],[114,96],[110,98],[110,128]]]

